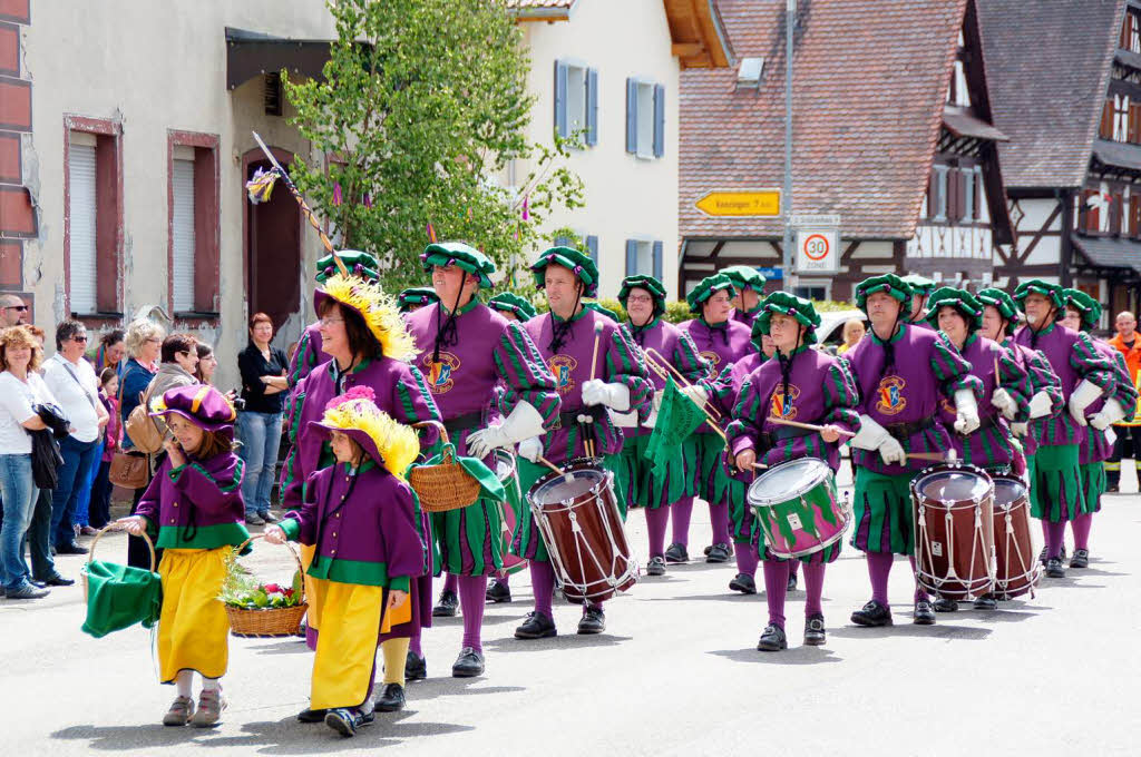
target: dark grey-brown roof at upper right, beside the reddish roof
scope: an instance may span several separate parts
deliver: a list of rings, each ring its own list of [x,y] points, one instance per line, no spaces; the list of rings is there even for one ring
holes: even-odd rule
[[[1006,187],[1081,187],[1126,0],[977,2]]]

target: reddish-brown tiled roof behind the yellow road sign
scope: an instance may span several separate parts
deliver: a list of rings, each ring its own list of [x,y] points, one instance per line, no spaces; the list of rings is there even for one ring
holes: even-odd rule
[[[793,210],[837,213],[849,238],[914,236],[968,0],[800,0],[793,88]],[[736,71],[681,74],[682,235],[779,237],[779,218],[710,218],[714,189],[784,181],[785,3],[720,0]],[[800,180],[796,181],[795,179]],[[808,180],[810,178],[810,180]]]

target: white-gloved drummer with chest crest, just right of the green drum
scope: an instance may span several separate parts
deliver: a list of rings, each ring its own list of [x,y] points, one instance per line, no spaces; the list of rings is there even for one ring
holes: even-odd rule
[[[906,321],[912,290],[895,274],[874,276],[856,287],[856,304],[872,329],[845,355],[860,392],[860,429],[851,440],[856,473],[856,523],[852,546],[867,555],[872,599],[852,613],[858,626],[890,626],[888,576],[892,555],[911,557],[915,569],[915,531],[911,482],[929,461],[909,453],[945,453],[952,448],[938,422],[939,400],[950,398],[954,429],[979,428],[981,385],[971,364],[947,337]],[[926,592],[915,584],[912,621],[934,622]]]

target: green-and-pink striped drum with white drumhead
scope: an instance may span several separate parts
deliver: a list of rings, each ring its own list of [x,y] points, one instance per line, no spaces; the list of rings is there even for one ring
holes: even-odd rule
[[[748,506],[776,557],[802,557],[835,544],[851,508],[836,496],[836,477],[828,464],[801,457],[770,467],[748,486]]]

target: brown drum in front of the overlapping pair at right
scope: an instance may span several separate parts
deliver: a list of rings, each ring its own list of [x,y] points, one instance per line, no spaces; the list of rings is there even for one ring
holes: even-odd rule
[[[995,581],[995,486],[981,467],[933,465],[912,481],[915,580],[948,600],[973,600]]]

